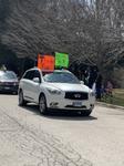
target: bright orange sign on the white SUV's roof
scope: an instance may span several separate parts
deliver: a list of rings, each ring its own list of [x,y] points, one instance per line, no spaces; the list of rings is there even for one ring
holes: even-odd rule
[[[52,55],[41,55],[38,56],[38,68],[41,70],[54,70],[54,56]]]

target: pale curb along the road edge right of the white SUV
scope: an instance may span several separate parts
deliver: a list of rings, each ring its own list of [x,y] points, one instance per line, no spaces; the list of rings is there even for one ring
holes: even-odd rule
[[[118,110],[124,111],[124,106],[118,106],[118,105],[108,104],[108,103],[104,103],[104,102],[96,102],[96,105],[106,106],[106,107],[111,107],[111,108],[118,108]]]

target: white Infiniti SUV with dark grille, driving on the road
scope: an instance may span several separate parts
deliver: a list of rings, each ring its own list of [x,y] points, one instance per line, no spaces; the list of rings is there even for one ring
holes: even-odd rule
[[[39,105],[42,114],[49,110],[78,111],[89,116],[94,107],[95,95],[66,70],[28,70],[19,84],[19,105],[28,102]]]

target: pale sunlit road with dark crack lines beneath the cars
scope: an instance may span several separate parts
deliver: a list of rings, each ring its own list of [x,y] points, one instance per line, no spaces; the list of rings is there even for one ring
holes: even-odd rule
[[[0,166],[124,166],[124,111],[42,116],[0,94]]]

